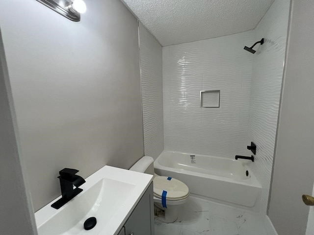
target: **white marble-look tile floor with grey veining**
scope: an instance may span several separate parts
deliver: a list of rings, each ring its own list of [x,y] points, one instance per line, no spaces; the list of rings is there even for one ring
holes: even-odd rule
[[[178,220],[155,219],[155,235],[267,235],[259,214],[190,196]]]

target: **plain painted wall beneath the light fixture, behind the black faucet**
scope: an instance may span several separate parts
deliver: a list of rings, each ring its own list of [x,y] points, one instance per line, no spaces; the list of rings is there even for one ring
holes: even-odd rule
[[[119,0],[85,2],[79,23],[35,0],[1,2],[34,211],[60,195],[60,169],[86,178],[144,155],[137,20]]]

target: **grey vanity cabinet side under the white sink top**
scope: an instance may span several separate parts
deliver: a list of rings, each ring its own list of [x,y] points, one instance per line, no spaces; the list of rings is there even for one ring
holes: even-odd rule
[[[118,235],[155,235],[153,183],[147,188]]]

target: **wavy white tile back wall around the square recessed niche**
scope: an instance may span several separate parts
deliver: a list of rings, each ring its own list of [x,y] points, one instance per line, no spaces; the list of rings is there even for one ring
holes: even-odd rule
[[[234,158],[247,145],[254,41],[248,31],[163,47],[164,147]],[[200,91],[220,90],[220,108],[200,108]]]

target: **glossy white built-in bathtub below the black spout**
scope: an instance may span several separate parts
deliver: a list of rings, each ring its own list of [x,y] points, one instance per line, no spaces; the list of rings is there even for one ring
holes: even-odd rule
[[[262,187],[249,164],[254,163],[248,160],[163,151],[154,162],[154,167],[158,175],[170,176],[184,182],[191,193],[252,208],[260,201]]]

